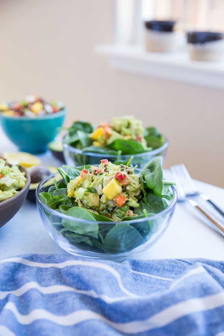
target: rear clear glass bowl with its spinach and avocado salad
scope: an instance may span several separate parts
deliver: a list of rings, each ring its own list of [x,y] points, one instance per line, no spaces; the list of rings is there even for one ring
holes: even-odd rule
[[[133,116],[112,118],[110,123],[92,125],[76,121],[63,138],[67,165],[95,164],[104,157],[109,161],[128,161],[138,168],[156,156],[166,157],[169,141],[156,127],[142,126]]]

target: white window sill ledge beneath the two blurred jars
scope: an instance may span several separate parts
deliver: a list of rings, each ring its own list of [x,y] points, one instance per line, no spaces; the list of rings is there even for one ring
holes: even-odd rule
[[[96,52],[107,55],[118,70],[224,89],[224,61],[191,61],[186,51],[147,53],[126,45],[99,45]]]

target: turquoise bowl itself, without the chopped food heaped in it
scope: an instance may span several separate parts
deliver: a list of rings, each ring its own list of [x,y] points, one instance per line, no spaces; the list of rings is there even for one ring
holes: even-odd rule
[[[58,134],[58,127],[64,122],[67,110],[39,116],[37,118],[10,117],[0,113],[0,124],[8,138],[18,146],[19,151],[44,153],[47,143]]]

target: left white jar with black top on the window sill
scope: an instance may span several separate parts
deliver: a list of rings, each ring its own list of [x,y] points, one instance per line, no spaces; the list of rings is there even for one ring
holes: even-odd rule
[[[180,50],[185,44],[183,31],[175,30],[176,21],[146,21],[145,49],[154,52]]]

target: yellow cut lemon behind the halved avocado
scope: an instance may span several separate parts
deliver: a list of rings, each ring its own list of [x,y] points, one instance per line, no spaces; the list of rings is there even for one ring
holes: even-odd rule
[[[24,167],[31,167],[41,164],[39,158],[26,152],[17,152],[17,153],[6,152],[3,154],[3,158],[6,159],[11,164],[20,164]]]

